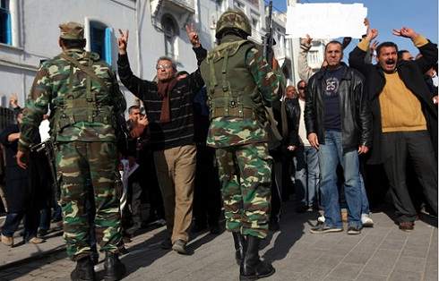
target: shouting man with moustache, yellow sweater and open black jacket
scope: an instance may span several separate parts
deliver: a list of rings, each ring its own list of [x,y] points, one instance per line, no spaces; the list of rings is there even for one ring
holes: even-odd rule
[[[383,163],[400,229],[410,231],[417,213],[406,183],[407,158],[437,214],[437,107],[423,79],[423,73],[437,62],[437,47],[409,28],[393,34],[411,38],[422,57],[398,62],[398,47],[384,42],[376,49],[378,64],[364,64],[365,50],[378,35],[377,30],[368,29],[365,40],[349,54],[349,64],[366,76],[374,123],[369,164]]]

